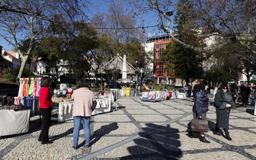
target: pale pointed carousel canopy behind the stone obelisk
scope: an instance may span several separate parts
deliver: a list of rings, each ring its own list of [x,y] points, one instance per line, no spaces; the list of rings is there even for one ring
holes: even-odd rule
[[[119,56],[119,54],[117,54],[117,56],[112,58],[112,60],[110,60],[107,64],[105,64],[98,70],[98,73],[101,74],[112,74],[114,80],[113,88],[117,88],[116,80],[118,79],[118,75],[122,74],[123,62],[124,59],[121,56]],[[127,75],[137,75],[138,70],[128,62],[126,62],[126,68]]]

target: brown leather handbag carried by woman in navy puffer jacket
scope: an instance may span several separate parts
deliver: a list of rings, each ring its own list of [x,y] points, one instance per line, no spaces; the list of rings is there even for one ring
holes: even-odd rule
[[[208,120],[192,119],[191,120],[191,131],[194,132],[208,132]]]

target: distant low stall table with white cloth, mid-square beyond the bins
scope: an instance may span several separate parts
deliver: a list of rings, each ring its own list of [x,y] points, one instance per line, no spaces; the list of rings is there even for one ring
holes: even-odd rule
[[[163,101],[169,97],[169,92],[165,91],[149,91],[149,92],[142,92],[142,100],[143,101]]]

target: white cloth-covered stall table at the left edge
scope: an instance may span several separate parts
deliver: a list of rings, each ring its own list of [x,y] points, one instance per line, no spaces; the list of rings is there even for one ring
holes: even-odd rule
[[[0,136],[28,132],[31,107],[20,105],[0,107]]]

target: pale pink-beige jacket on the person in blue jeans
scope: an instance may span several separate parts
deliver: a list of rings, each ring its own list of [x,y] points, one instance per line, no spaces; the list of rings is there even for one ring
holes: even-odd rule
[[[92,115],[92,102],[96,100],[96,97],[89,88],[74,90],[71,98],[74,100],[73,116]]]

